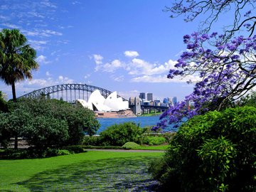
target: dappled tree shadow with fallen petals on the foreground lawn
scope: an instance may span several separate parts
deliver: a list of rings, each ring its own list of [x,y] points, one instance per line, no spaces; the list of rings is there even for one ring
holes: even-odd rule
[[[152,159],[84,161],[41,172],[17,184],[31,191],[157,191],[158,183],[147,172]]]

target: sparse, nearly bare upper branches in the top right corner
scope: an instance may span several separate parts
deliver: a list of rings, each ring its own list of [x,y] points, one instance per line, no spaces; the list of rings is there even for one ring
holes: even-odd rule
[[[166,6],[165,11],[171,12],[171,18],[185,16],[184,21],[190,22],[200,15],[205,16],[201,21],[201,32],[208,33],[213,23],[223,18],[223,14],[229,13],[233,18],[227,26],[223,26],[225,38],[231,38],[236,32],[247,31],[247,36],[255,32],[255,0],[176,0],[173,6]]]

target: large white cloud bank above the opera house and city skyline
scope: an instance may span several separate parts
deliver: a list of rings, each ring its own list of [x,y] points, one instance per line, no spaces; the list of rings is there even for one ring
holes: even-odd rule
[[[102,70],[104,72],[113,73],[111,78],[114,81],[124,80],[124,74],[121,76],[114,74],[117,69],[127,71],[127,75],[132,76],[130,79],[131,82],[187,82],[188,80],[195,82],[200,80],[196,75],[168,79],[167,75],[169,74],[169,70],[174,68],[174,65],[177,63],[176,60],[171,59],[165,63],[149,63],[140,58],[132,58],[128,63],[124,63],[122,60],[115,59],[105,64],[102,63],[102,55],[93,55],[93,59],[96,63],[95,71]]]

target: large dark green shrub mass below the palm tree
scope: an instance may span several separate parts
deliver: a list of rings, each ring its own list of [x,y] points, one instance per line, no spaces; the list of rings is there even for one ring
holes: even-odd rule
[[[81,144],[85,133],[100,127],[92,111],[59,100],[22,99],[9,109],[0,114],[1,143],[18,136],[37,148]]]

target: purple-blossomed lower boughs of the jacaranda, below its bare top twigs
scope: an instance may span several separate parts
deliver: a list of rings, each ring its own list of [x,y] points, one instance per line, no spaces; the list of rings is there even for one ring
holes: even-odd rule
[[[181,54],[167,78],[198,75],[201,80],[195,82],[193,92],[183,102],[161,114],[161,122],[154,129],[173,123],[177,126],[183,117],[223,110],[255,87],[256,35],[238,36],[226,44],[221,43],[222,38],[218,33],[192,33],[183,37],[187,51]],[[188,102],[194,103],[192,110],[188,109]]]

